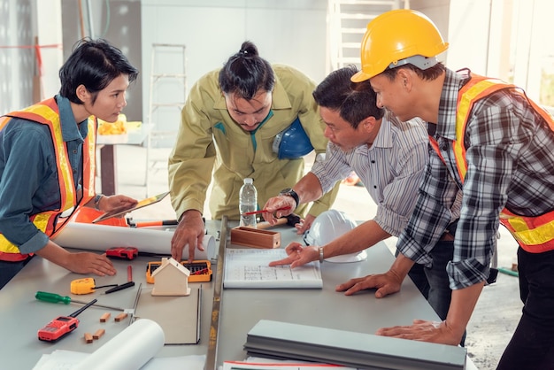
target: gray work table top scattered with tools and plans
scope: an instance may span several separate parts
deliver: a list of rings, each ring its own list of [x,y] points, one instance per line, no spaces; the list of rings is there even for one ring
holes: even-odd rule
[[[208,221],[211,235],[219,230],[218,221]],[[233,225],[231,225],[233,226]],[[290,227],[278,227],[281,232],[281,245],[297,240],[296,230]],[[230,235],[227,233],[227,236]],[[229,244],[227,247],[240,248]],[[221,243],[223,245],[223,243]],[[335,286],[350,278],[376,274],[386,271],[393,256],[384,243],[379,243],[368,251],[367,260],[349,264],[324,262],[321,267],[323,289],[222,289],[219,330],[217,337],[217,365],[226,359],[241,360],[246,353],[242,345],[246,335],[258,320],[286,321],[297,324],[335,328],[362,333],[374,333],[377,328],[394,325],[409,325],[414,319],[438,320],[427,301],[419,294],[412,281],[404,281],[402,290],[392,296],[376,299],[374,290],[346,297],[336,292]],[[151,288],[146,283],[145,272],[149,261],[158,258],[139,256],[132,261],[114,259],[118,274],[113,277],[95,277],[97,285],[123,283],[127,281],[127,266],[133,266],[135,287],[124,289],[109,295],[102,295],[104,289],[97,289],[88,295],[70,294],[70,282],[89,275],[73,274],[42,258],[35,257],[27,266],[0,290],[0,331],[4,335],[0,345],[0,358],[6,368],[32,368],[42,353],[54,350],[92,352],[127,328],[130,317],[122,322],[114,322],[119,314],[105,308],[89,307],[78,316],[79,328],[58,343],[44,343],[38,340],[37,330],[58,316],[66,316],[78,310],[80,304],[50,304],[35,299],[38,290],[70,296],[73,299],[89,301],[98,299],[98,304],[107,304],[121,308],[133,308],[139,283],[142,289]],[[219,266],[212,265],[212,282],[203,282],[201,339],[196,345],[165,346],[158,357],[185,356],[208,353],[212,322],[213,291],[218,281],[216,271]],[[201,283],[189,283],[191,288]],[[106,323],[99,318],[104,312],[112,317]],[[106,333],[94,343],[83,340],[86,332],[94,333],[105,328]],[[468,363],[471,361],[468,360]],[[469,368],[469,366],[468,366]],[[472,367],[473,368],[473,367]],[[206,369],[212,370],[212,369]]]

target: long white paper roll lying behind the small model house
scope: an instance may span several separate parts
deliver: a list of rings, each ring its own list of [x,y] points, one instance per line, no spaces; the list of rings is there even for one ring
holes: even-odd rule
[[[89,251],[106,251],[112,247],[135,247],[139,252],[171,254],[171,239],[175,227],[119,227],[68,222],[53,240],[62,247]],[[204,235],[204,251],[196,250],[195,259],[215,257],[215,239]],[[189,245],[182,259],[189,258]]]

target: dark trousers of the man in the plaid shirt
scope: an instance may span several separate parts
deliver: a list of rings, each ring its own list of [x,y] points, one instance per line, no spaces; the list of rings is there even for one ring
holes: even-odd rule
[[[554,251],[519,248],[518,270],[523,314],[497,370],[554,369]]]

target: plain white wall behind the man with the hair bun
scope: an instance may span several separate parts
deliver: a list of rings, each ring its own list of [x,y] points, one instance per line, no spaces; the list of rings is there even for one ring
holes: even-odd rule
[[[322,0],[142,0],[143,119],[149,110],[152,43],[187,46],[189,87],[222,66],[246,40],[255,42],[269,62],[295,66],[319,82],[325,77],[326,17]],[[165,63],[174,67],[169,58]],[[160,119],[161,114],[152,118],[158,129],[178,127],[177,110]]]

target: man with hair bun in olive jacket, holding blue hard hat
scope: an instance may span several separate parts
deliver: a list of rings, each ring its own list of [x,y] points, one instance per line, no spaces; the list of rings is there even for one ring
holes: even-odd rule
[[[212,175],[212,218],[239,220],[244,178],[254,180],[259,208],[300,180],[304,155],[312,150],[318,157],[325,153],[325,125],[313,89],[315,83],[304,73],[270,64],[248,41],[222,68],[196,81],[182,109],[168,162],[171,201],[179,220],[172,240],[173,258],[186,258],[181,255],[185,245],[191,246],[189,259],[196,248],[203,248],[202,212]],[[295,212],[304,217],[297,225],[299,233],[329,209],[338,186],[309,210],[296,202]]]

